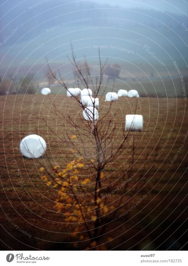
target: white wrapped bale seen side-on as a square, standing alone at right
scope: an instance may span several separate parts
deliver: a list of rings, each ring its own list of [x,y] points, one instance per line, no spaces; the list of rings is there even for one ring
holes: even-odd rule
[[[126,115],[125,116],[125,130],[128,131],[142,131],[143,116],[142,115]]]

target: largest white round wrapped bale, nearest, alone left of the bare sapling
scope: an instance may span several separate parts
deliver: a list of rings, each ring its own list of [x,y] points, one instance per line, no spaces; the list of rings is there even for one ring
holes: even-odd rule
[[[39,158],[46,151],[46,142],[39,135],[28,135],[22,139],[20,151],[27,158]]]

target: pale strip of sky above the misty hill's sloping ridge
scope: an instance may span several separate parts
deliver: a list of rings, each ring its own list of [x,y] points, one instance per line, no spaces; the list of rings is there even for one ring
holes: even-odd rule
[[[98,4],[109,4],[111,6],[120,6],[123,8],[146,8],[146,9],[159,9],[164,12],[187,14],[188,1],[184,0],[91,0]]]

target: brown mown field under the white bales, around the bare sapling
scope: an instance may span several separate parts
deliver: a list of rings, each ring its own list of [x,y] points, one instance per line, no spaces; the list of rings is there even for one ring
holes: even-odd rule
[[[75,159],[66,143],[61,142],[56,136],[63,138],[63,122],[61,117],[56,117],[51,100],[59,107],[65,95],[35,95],[32,112],[32,133],[42,136],[47,143],[47,153],[40,159],[23,158],[19,151],[20,140],[29,134],[29,110],[34,95],[1,96],[1,113],[3,123],[3,136],[1,143],[1,248],[5,250],[69,250],[84,249],[84,243],[79,243],[77,248],[68,234],[68,227],[63,222],[63,216],[56,213],[55,199],[57,191],[47,186],[41,179],[39,168],[43,165],[51,169],[50,163],[64,167],[67,162]],[[103,97],[100,106],[103,111],[109,106]],[[184,135],[188,130],[187,110],[182,98],[139,98],[137,114],[144,117],[144,129],[136,133],[135,155],[132,169],[132,185],[127,192],[132,198],[126,202],[127,195],[123,196],[123,205],[118,212],[121,214],[137,202],[140,197],[147,194],[139,205],[129,212],[128,216],[114,217],[114,221],[107,224],[102,245],[107,249],[120,250],[165,250],[185,249],[186,219],[187,219],[187,147],[188,140],[177,156],[172,167],[170,161],[180,148]],[[71,107],[71,105],[73,106]],[[134,113],[135,98],[119,98],[112,104],[112,112],[119,110],[115,118],[117,123],[116,142],[121,141],[121,127],[125,115]],[[71,108],[70,108],[71,107]],[[70,108],[70,110],[69,110]],[[101,107],[100,107],[101,108]],[[69,110],[69,111],[68,111]],[[57,111],[57,110],[56,110]],[[68,98],[63,105],[63,112],[81,114],[77,103]],[[101,113],[102,113],[101,112]],[[99,115],[101,115],[99,109]],[[76,121],[79,122],[79,116]],[[44,122],[45,120],[45,122]],[[105,126],[105,125],[104,125]],[[169,134],[173,132],[162,155],[155,161]],[[53,133],[53,132],[54,133]],[[71,135],[74,128],[68,128]],[[129,139],[132,133],[130,133]],[[75,140],[76,141],[76,140]],[[24,188],[18,183],[17,170],[13,164],[16,159],[21,174],[24,178]],[[129,170],[131,150],[122,151],[120,158],[108,165],[104,171],[104,184],[112,184],[113,181]],[[86,164],[85,164],[86,165]],[[118,169],[118,170],[117,170]],[[87,174],[86,172],[83,175]],[[133,187],[137,183],[140,173],[143,178],[139,181],[140,190],[134,192]],[[123,180],[122,180],[123,181]],[[106,182],[106,183],[105,183]],[[121,183],[121,182],[120,182]],[[111,186],[113,189],[113,185]],[[105,190],[104,190],[105,194]],[[118,191],[114,195],[122,196]],[[110,199],[109,199],[110,200]],[[116,206],[116,202],[114,203]],[[5,214],[11,219],[8,222]],[[27,231],[31,237],[19,232],[15,226]],[[110,238],[109,238],[110,237]],[[100,247],[99,247],[100,249]]]

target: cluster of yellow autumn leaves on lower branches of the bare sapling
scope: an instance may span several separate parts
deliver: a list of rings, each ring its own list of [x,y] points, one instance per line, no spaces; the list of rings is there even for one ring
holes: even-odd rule
[[[84,242],[98,237],[98,227],[105,225],[104,216],[111,209],[102,202],[100,188],[93,190],[93,182],[81,175],[80,171],[84,167],[82,161],[82,157],[75,159],[64,169],[56,165],[52,169],[54,174],[51,179],[46,175],[41,178],[48,186],[58,191],[54,208],[62,214],[70,238]],[[104,178],[102,172],[100,178]],[[91,240],[89,246],[95,248],[94,243],[96,244]]]

